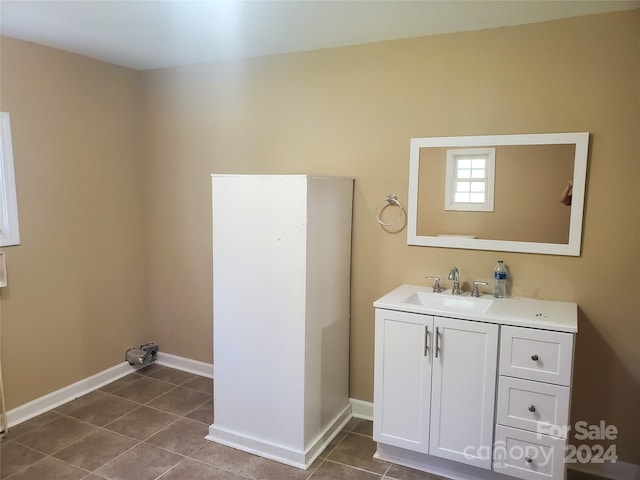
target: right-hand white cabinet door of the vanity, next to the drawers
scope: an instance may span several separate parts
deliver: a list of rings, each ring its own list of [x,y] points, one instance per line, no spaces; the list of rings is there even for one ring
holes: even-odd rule
[[[434,327],[429,453],[491,469],[498,326],[436,317]]]

